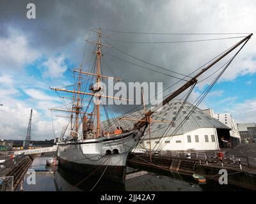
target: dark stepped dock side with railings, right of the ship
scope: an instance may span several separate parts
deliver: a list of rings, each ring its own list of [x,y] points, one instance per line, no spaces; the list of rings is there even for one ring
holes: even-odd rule
[[[196,173],[217,182],[220,177],[219,171],[225,169],[230,184],[256,191],[256,166],[248,158],[194,157],[192,154],[189,158],[186,154],[179,157],[154,155],[150,162],[148,154],[131,153],[128,165],[132,168],[140,168],[140,170],[161,171],[166,175],[180,173],[192,176]]]

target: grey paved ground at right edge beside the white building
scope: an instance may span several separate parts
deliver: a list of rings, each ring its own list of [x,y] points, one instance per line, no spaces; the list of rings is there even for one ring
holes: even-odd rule
[[[237,145],[234,149],[223,149],[226,152],[229,152],[232,155],[235,156],[243,156],[243,157],[253,157],[256,158],[256,143],[248,143],[244,144],[241,143],[240,145]]]

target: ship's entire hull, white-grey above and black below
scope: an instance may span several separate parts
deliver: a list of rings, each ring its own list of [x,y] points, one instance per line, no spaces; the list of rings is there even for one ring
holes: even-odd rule
[[[59,165],[92,177],[122,182],[125,180],[127,156],[140,138],[140,132],[111,138],[58,143]]]

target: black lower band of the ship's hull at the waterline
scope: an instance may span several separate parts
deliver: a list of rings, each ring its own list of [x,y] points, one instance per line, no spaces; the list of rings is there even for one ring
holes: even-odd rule
[[[125,182],[126,166],[108,166],[106,168],[106,166],[103,165],[74,163],[61,159],[60,157],[58,159],[60,168],[76,171],[77,173],[84,175],[84,177],[86,177],[86,175],[90,175],[90,177],[94,178],[100,178],[102,176],[101,180],[109,180],[122,184]],[[103,172],[104,174],[102,175]]]

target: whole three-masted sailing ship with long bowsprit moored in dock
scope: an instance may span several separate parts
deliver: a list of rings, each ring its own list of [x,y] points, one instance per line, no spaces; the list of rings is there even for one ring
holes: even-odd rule
[[[161,105],[157,105],[150,110],[146,110],[144,106],[144,113],[141,115],[141,119],[136,120],[130,117],[130,120],[134,120],[134,126],[130,129],[122,129],[118,124],[111,124],[111,122],[109,122],[108,128],[103,128],[101,125],[103,120],[110,121],[108,105],[100,103],[102,98],[126,101],[130,99],[115,98],[102,93],[104,91],[104,87],[101,86],[103,80],[118,81],[120,79],[114,76],[102,75],[102,47],[109,47],[109,45],[102,43],[102,35],[104,34],[100,29],[94,32],[97,33],[97,41],[89,41],[96,48],[95,52],[93,52],[95,54],[95,63],[93,63],[92,72],[83,71],[82,66],[78,69],[72,69],[74,84],[69,87],[73,89],[51,88],[58,93],[65,92],[69,94],[68,96],[59,94],[59,96],[71,100],[70,105],[65,103],[65,109],[52,108],[53,111],[70,114],[68,116],[68,124],[63,131],[67,132],[67,129],[70,129],[68,131],[69,136],[64,139],[63,133],[57,143],[58,159],[61,168],[115,182],[124,182],[127,156],[138,145],[145,131],[150,128],[152,115],[159,110],[161,111],[161,106],[166,105],[180,93],[188,90],[189,87],[193,87],[200,75],[240,45],[243,47],[252,36],[250,34],[244,37],[236,45],[218,55],[207,66],[198,70],[198,73],[190,77],[179,89],[168,94]],[[85,87],[83,86],[84,84],[86,84]],[[168,122],[171,124],[175,121],[173,119]]]

